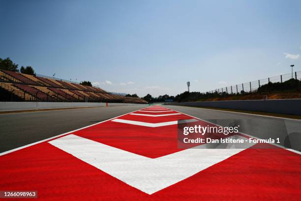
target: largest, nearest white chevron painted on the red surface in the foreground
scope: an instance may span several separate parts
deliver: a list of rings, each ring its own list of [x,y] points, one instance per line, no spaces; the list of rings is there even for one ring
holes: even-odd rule
[[[252,145],[244,145],[241,149],[206,149],[202,148],[206,145],[200,145],[200,148],[151,159],[74,134],[48,143],[149,195],[226,160]]]

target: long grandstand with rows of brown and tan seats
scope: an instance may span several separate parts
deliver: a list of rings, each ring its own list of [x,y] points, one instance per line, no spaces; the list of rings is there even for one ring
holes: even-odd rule
[[[0,70],[0,94],[0,101],[146,103],[140,98],[110,94],[98,87],[2,69]]]

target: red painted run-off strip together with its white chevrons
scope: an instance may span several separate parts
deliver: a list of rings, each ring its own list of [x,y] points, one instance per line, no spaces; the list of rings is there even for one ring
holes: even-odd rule
[[[2,154],[0,190],[37,191],[38,200],[300,199],[299,153],[179,149],[178,120],[197,118],[172,108],[149,106]]]

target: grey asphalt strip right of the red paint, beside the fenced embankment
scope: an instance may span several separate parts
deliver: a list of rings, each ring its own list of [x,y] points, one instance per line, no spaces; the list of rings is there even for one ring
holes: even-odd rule
[[[261,139],[279,138],[279,145],[301,151],[301,120],[243,114],[213,109],[167,106],[220,126],[240,125],[239,131]]]

